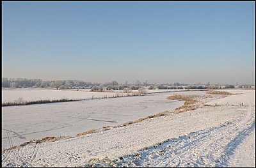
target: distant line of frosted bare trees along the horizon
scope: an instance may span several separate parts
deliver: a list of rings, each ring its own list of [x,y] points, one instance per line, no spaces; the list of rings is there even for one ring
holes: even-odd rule
[[[138,90],[143,87],[148,87],[148,89],[222,89],[222,88],[235,88],[234,85],[225,84],[221,86],[220,84],[210,84],[208,82],[205,85],[202,84],[180,84],[179,82],[174,82],[172,84],[148,84],[148,81],[141,83],[140,80],[136,80],[134,84],[128,84],[126,81],[124,84],[118,84],[116,80],[105,83],[92,83],[84,82],[82,80],[47,80],[42,79],[8,79],[2,78],[2,88],[56,88],[56,89],[85,89],[90,88],[92,91],[104,91],[104,90]],[[251,86],[237,86],[238,88],[249,88]]]

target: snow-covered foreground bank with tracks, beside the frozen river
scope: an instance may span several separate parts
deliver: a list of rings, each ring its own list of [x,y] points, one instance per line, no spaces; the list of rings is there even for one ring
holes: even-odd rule
[[[194,111],[2,151],[2,166],[255,167],[255,91],[239,93]]]

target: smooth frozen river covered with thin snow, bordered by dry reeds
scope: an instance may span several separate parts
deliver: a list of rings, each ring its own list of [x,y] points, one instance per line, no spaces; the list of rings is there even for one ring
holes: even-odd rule
[[[2,107],[2,148],[47,136],[76,136],[86,130],[120,125],[184,105],[166,100],[172,94]]]

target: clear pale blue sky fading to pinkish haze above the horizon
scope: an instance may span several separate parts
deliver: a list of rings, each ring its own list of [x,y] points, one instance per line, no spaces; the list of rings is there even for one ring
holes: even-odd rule
[[[2,76],[255,83],[255,2],[2,2]]]

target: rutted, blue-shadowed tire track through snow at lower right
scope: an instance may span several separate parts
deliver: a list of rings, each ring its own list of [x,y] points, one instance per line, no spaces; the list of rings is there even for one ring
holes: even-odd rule
[[[85,166],[227,167],[237,146],[254,129],[253,109],[249,106],[245,116],[221,126],[170,139],[142,149],[138,153],[116,158],[114,161],[104,158],[103,161],[98,160]]]

